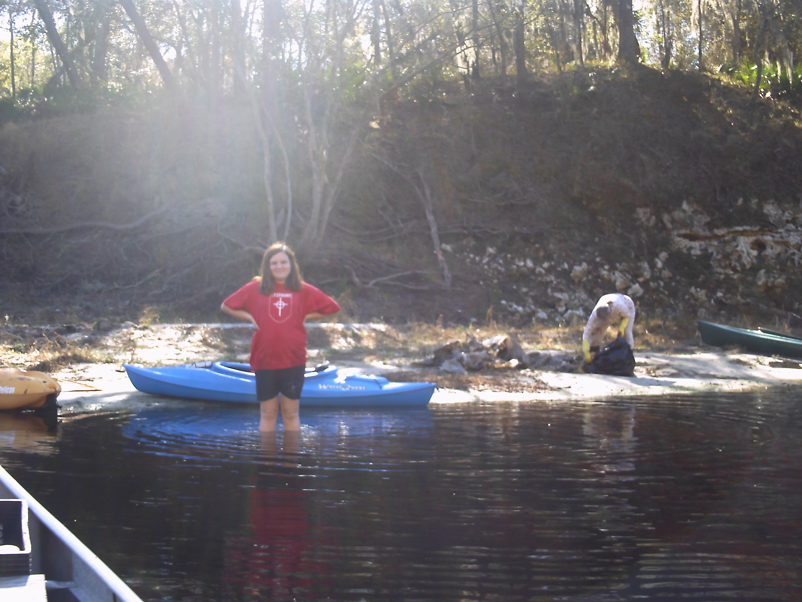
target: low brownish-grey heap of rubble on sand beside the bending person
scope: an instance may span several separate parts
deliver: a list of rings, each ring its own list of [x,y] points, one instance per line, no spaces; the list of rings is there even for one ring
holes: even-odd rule
[[[479,341],[471,337],[447,341],[435,347],[430,356],[414,365],[422,368],[439,368],[444,372],[478,372],[487,368],[548,370],[550,372],[576,372],[581,356],[576,352],[525,351],[514,336],[497,335]]]

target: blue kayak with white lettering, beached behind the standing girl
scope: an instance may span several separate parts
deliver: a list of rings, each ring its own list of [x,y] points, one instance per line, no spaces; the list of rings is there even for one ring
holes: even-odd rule
[[[256,376],[249,364],[205,362],[139,368],[125,364],[132,384],[143,393],[255,404]],[[301,405],[427,405],[434,383],[392,383],[383,376],[340,374],[334,366],[307,370]]]

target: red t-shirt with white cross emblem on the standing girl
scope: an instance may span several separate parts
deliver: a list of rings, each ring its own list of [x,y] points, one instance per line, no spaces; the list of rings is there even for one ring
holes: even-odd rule
[[[336,314],[339,304],[311,284],[304,283],[296,292],[277,283],[273,295],[262,295],[259,284],[252,280],[223,302],[231,309],[247,311],[259,325],[251,340],[251,368],[281,370],[306,365],[304,316]]]

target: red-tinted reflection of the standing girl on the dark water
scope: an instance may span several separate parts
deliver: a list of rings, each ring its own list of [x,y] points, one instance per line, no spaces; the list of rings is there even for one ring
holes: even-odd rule
[[[285,431],[283,449],[275,433],[261,433],[264,459],[250,496],[252,538],[226,553],[229,583],[243,599],[294,600],[320,587],[330,567],[314,559],[316,527],[310,526],[306,492],[298,474],[298,431]],[[319,541],[319,540],[318,540]]]

